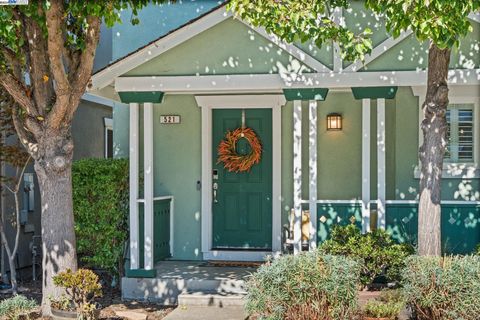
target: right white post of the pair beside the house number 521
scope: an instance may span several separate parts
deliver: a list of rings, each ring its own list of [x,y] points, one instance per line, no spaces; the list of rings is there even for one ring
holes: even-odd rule
[[[143,105],[143,172],[145,199],[145,270],[153,269],[153,103]]]

